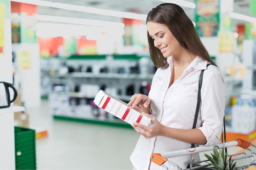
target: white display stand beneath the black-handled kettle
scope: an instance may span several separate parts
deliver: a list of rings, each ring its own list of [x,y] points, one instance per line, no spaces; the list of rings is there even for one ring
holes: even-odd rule
[[[22,106],[0,109],[0,170],[15,169],[14,112],[25,111]]]

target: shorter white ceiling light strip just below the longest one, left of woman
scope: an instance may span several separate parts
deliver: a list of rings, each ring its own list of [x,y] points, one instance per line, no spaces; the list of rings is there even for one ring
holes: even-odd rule
[[[36,15],[36,20],[63,22],[63,23],[80,24],[80,25],[124,28],[124,23],[122,22],[110,22],[110,21],[102,21],[102,20],[90,20],[90,19],[60,17],[60,16],[51,16],[51,15]]]

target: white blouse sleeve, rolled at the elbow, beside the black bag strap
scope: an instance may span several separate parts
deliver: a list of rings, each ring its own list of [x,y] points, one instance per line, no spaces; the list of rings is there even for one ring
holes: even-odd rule
[[[226,82],[219,68],[208,66],[201,89],[201,121],[199,129],[207,139],[204,146],[218,143],[222,134],[226,101]]]

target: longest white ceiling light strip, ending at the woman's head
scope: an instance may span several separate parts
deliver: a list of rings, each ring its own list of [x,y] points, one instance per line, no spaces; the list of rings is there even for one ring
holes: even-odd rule
[[[146,21],[146,17],[147,17],[147,15],[139,14],[139,13],[113,11],[113,10],[108,10],[108,9],[84,7],[84,6],[79,6],[79,5],[64,4],[64,3],[59,3],[59,2],[50,2],[50,1],[43,1],[43,0],[12,0],[12,1],[22,2],[22,3],[27,3],[27,4],[34,4],[34,5],[43,5],[43,6],[47,6],[47,7],[67,9],[67,10],[72,10],[72,11],[95,13],[95,14],[99,14],[99,15],[108,15],[108,16],[114,16],[114,17],[119,17],[119,18],[130,18],[130,19],[143,20],[143,21]]]

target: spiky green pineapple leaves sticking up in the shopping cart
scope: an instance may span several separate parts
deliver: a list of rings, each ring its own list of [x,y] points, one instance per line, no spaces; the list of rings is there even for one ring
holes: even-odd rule
[[[216,149],[216,147],[213,147],[213,154],[210,155],[204,154],[207,159],[211,163],[209,163],[211,166],[208,168],[212,170],[236,170],[236,162],[231,161],[231,157],[229,157],[228,160],[228,154],[224,152],[225,146],[223,145],[223,148],[219,150]]]

